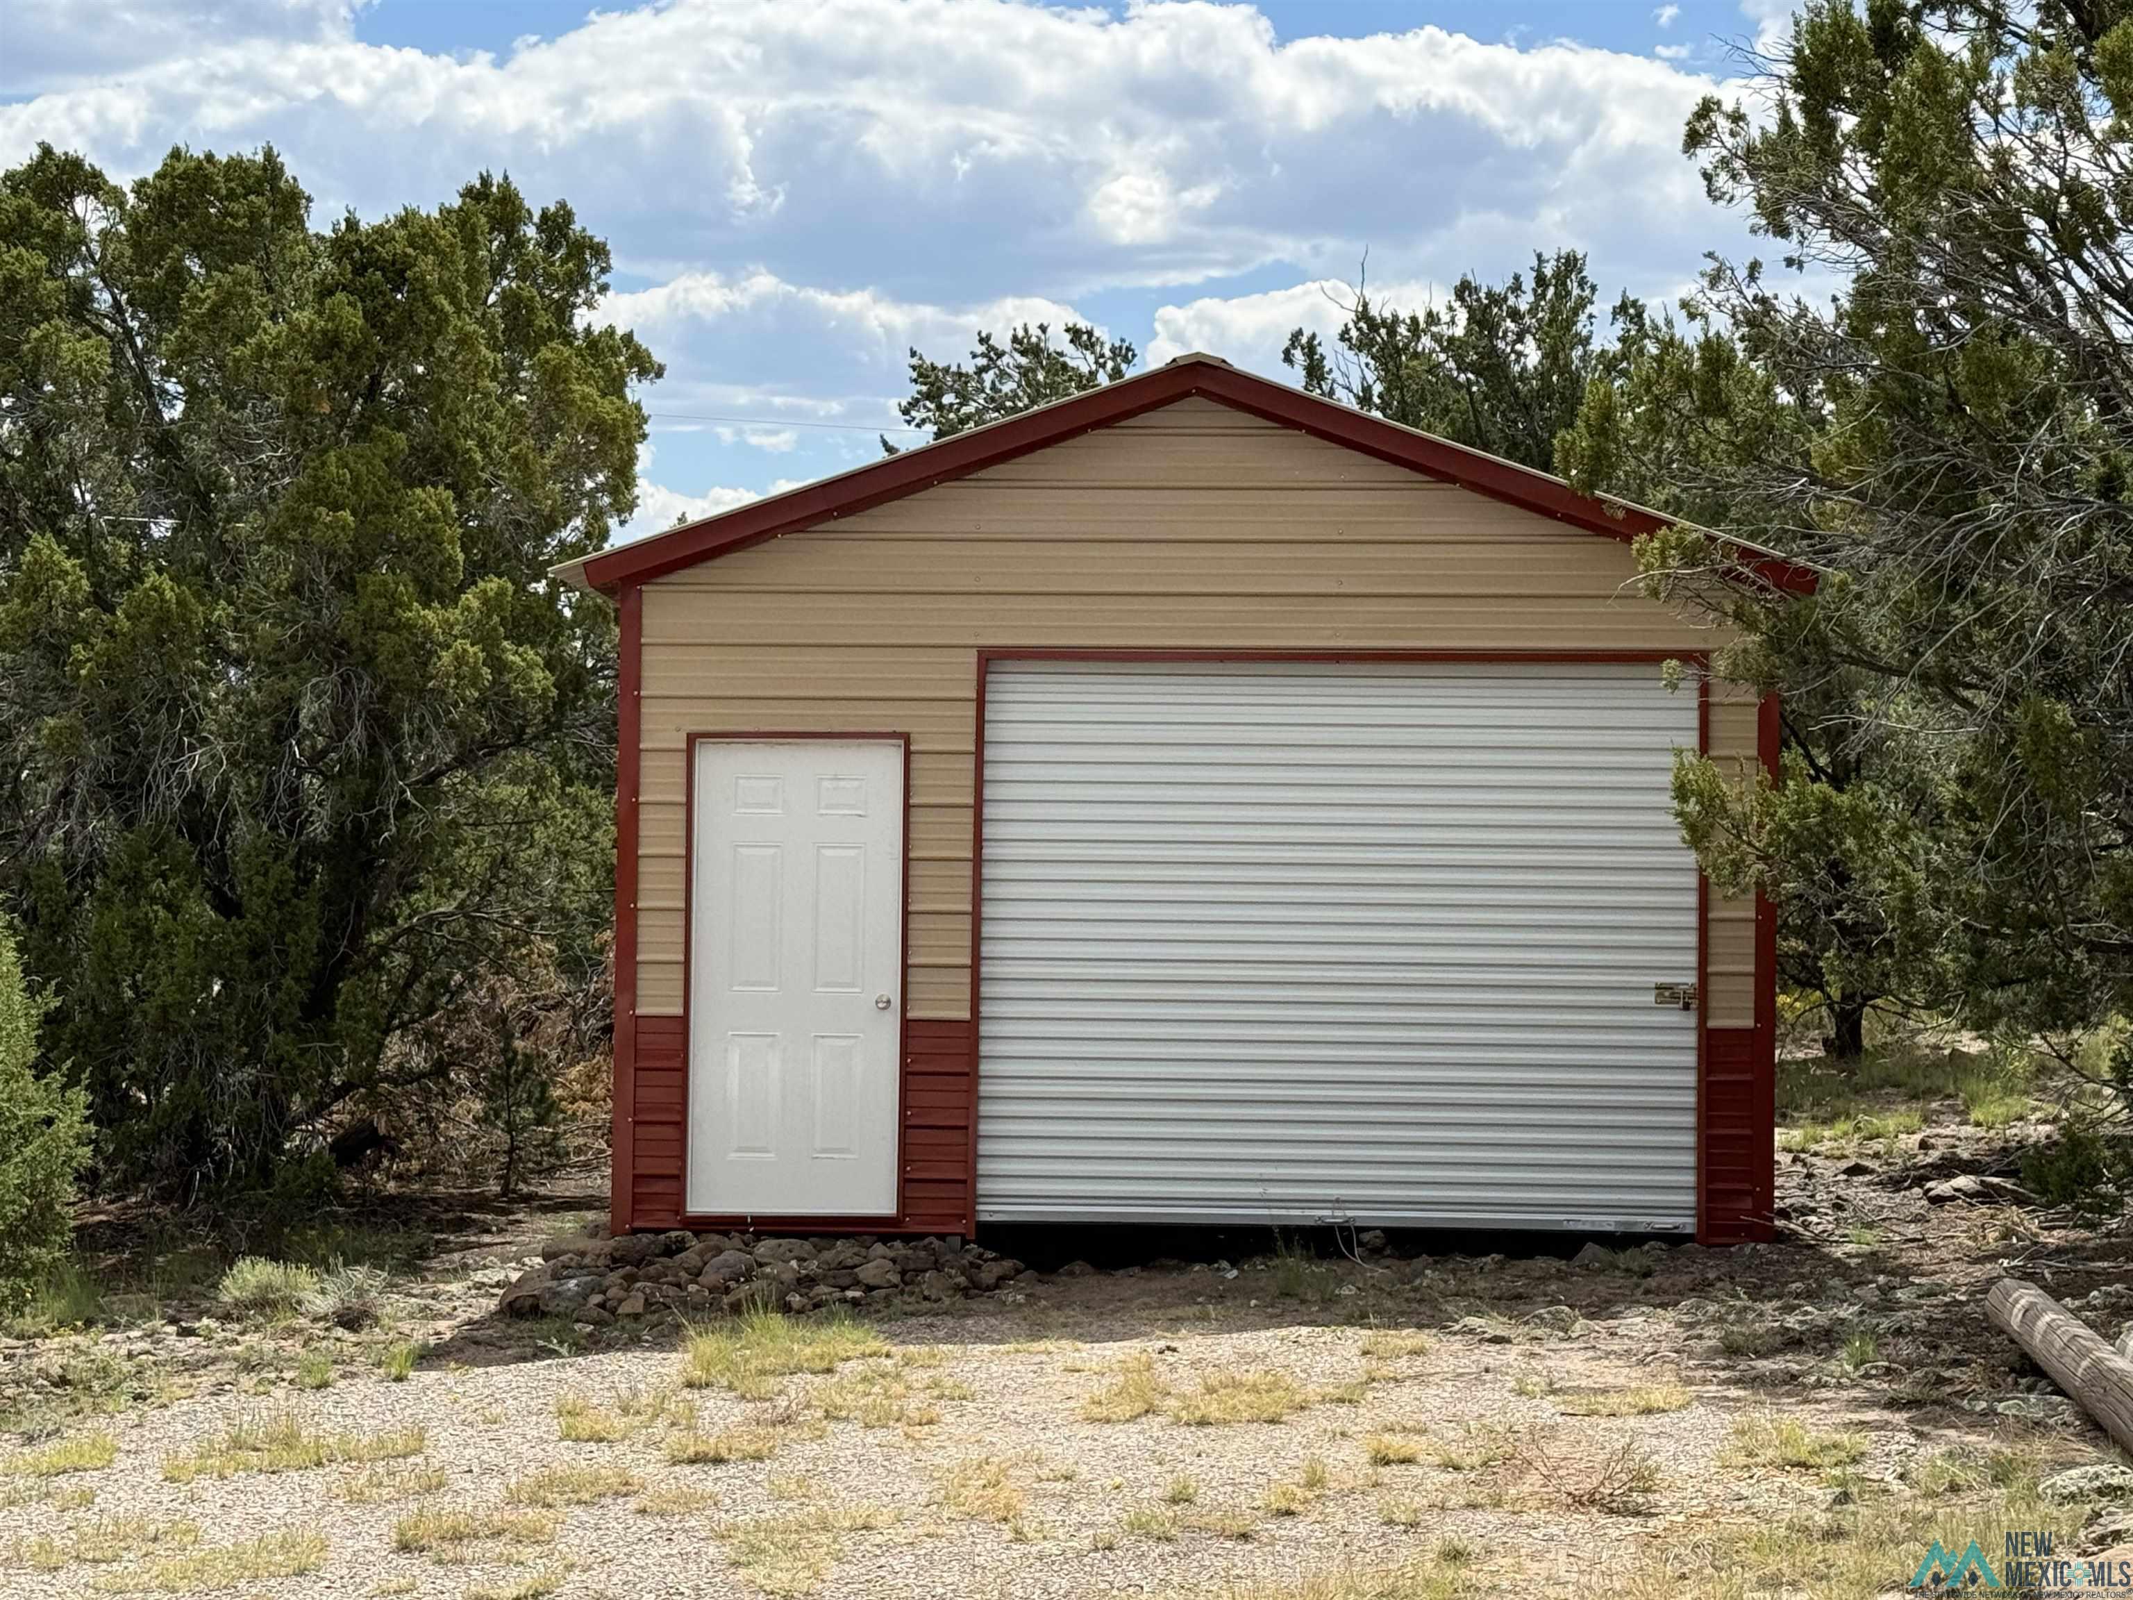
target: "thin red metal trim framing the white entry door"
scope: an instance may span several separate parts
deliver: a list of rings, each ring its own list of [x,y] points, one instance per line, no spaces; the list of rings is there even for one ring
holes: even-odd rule
[[[898,951],[896,951],[896,1210],[881,1216],[708,1216],[683,1214],[683,1227],[715,1229],[776,1229],[781,1233],[883,1233],[902,1231],[911,1207],[904,1199],[907,1152],[904,1152],[904,1090],[911,1079],[911,734],[889,730],[866,732],[813,732],[813,730],[717,730],[691,732],[683,738],[683,813],[680,813],[680,1193],[689,1197],[689,1092],[695,1073],[689,1050],[693,1033],[689,1028],[689,996],[693,990],[695,962],[695,747],[697,745],[855,745],[894,740],[902,749],[904,779],[904,847],[898,864]]]

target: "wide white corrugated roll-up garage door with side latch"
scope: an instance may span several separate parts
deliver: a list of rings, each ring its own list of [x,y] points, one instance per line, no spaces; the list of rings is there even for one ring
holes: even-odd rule
[[[994,661],[977,1214],[1689,1229],[1696,693]]]

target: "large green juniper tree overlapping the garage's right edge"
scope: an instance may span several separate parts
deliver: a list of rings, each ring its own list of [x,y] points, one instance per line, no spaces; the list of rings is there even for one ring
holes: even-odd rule
[[[2018,1035],[2133,1009],[2129,62],[2116,4],[1809,4],[1685,143],[1824,299],[1713,262],[1561,452],[1822,572],[1642,553],[1785,691],[1781,781],[1679,798],[1824,969],[1787,975]]]

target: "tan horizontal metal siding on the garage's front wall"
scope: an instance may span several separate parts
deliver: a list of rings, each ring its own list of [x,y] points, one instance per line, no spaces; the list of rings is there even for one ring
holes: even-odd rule
[[[1711,644],[1634,576],[1613,540],[1186,399],[657,578],[644,589],[640,1011],[680,1013],[689,732],[911,732],[909,1005],[964,1020],[977,649]],[[1715,700],[1711,734],[1753,757],[1753,702]],[[1753,907],[1713,907],[1713,930],[1743,915],[1751,937]],[[1713,975],[1715,1007],[1751,1013],[1745,964],[1719,988]]]

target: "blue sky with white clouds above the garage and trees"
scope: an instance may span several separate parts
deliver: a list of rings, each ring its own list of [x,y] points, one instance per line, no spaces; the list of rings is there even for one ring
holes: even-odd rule
[[[1369,282],[1747,254],[1681,158],[1787,0],[0,0],[0,164],[277,145],[375,215],[482,169],[616,256],[668,363],[634,531],[879,454],[904,352],[1094,320],[1278,371]],[[898,435],[911,437],[911,435]]]

